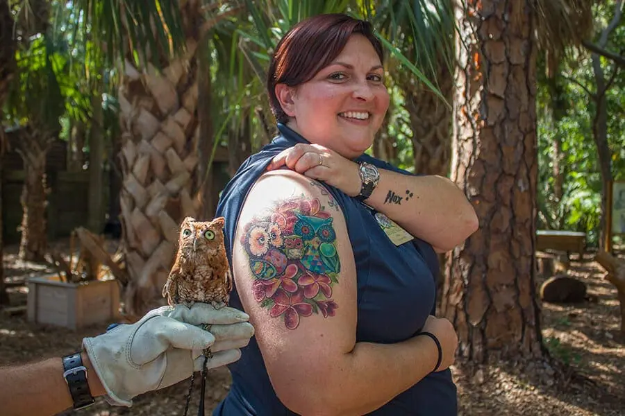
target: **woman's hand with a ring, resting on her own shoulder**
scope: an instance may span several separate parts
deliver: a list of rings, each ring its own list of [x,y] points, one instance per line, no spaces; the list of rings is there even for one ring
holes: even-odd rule
[[[267,166],[274,171],[287,166],[292,171],[326,182],[349,196],[360,193],[358,164],[318,144],[296,144],[278,153]]]

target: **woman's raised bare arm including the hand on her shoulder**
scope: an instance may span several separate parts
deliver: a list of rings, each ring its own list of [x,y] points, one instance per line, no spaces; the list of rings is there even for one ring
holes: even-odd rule
[[[274,157],[269,170],[283,165],[331,184],[349,196],[360,193],[358,164],[323,146],[297,144],[283,150]],[[478,228],[478,218],[467,197],[446,177],[379,171],[378,186],[365,201],[367,205],[383,212],[437,251],[453,249]]]

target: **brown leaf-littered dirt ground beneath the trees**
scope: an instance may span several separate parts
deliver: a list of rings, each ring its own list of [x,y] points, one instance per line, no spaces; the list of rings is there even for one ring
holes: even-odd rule
[[[67,241],[54,248],[67,252]],[[17,247],[5,250],[8,281],[52,270],[17,260]],[[621,257],[625,257],[621,255]],[[596,302],[542,304],[542,335],[551,359],[469,365],[457,362],[459,415],[625,415],[625,339],[619,333],[616,289],[603,279],[603,269],[587,254],[572,261],[569,275],[587,284]],[[26,288],[10,289],[12,306],[26,304]],[[106,329],[101,324],[79,331],[27,322],[25,313],[0,313],[0,365],[37,361],[74,352],[85,336]],[[118,408],[103,399],[76,413],[84,416],[183,415],[188,381],[135,398],[132,408]],[[194,390],[188,415],[197,415],[199,389]],[[207,415],[228,392],[227,369],[212,370],[206,392]]]

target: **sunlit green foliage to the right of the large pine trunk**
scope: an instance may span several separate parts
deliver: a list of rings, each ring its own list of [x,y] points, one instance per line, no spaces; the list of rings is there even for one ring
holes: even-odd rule
[[[612,5],[594,8],[597,31],[612,19]],[[610,35],[611,51],[625,50],[625,27]],[[608,145],[612,156],[611,172],[615,180],[625,177],[625,77],[622,69],[601,58],[606,80],[612,80],[606,92],[608,110]],[[541,60],[537,90],[538,114],[538,209],[539,228],[569,229],[587,232],[590,245],[597,245],[601,220],[603,181],[599,166],[593,123],[597,112],[594,95],[597,85],[590,53],[576,49],[560,62],[552,78],[544,76],[547,63]],[[553,144],[561,142],[560,169],[564,179],[562,196],[556,198]]]

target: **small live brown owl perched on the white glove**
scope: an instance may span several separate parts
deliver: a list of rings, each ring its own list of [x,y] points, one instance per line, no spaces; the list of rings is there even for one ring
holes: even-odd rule
[[[178,253],[163,297],[167,303],[210,303],[219,309],[230,299],[232,275],[224,248],[224,217],[212,221],[183,220],[178,237]]]

